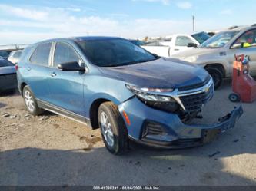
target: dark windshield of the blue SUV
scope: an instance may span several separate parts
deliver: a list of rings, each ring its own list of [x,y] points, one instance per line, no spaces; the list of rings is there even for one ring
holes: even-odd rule
[[[116,67],[153,61],[158,57],[124,39],[77,42],[85,56],[99,67]]]

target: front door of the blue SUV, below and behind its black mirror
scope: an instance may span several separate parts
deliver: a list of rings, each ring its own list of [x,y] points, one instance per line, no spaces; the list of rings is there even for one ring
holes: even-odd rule
[[[81,71],[59,71],[58,64],[81,60],[75,48],[66,42],[56,42],[51,70],[48,73],[52,103],[57,107],[83,116],[84,110],[84,77]]]

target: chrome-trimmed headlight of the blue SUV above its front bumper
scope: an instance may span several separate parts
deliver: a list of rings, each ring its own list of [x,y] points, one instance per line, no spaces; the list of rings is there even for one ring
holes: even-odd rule
[[[168,96],[159,95],[161,92],[171,92],[173,89],[136,87],[131,84],[125,84],[143,103],[149,107],[166,112],[175,112],[178,110],[177,102]]]

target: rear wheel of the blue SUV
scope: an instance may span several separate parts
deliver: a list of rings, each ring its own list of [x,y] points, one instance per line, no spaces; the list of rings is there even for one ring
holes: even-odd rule
[[[44,110],[38,107],[38,104],[36,103],[36,100],[35,100],[35,96],[28,86],[25,86],[23,88],[22,96],[25,102],[25,107],[30,114],[40,115],[44,112]]]

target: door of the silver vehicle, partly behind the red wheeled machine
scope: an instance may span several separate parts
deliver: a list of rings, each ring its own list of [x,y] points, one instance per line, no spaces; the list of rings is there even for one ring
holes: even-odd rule
[[[244,32],[241,37],[234,41],[231,49],[233,49],[234,54],[245,54],[250,57],[250,73],[256,75],[256,29]]]

